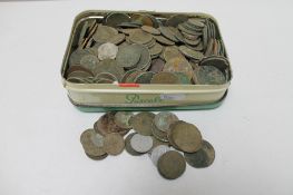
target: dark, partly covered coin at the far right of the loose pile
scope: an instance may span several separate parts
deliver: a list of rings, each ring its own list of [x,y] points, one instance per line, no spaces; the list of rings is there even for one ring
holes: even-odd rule
[[[208,167],[215,159],[215,149],[206,140],[203,140],[202,148],[195,153],[184,153],[188,165],[196,168]]]

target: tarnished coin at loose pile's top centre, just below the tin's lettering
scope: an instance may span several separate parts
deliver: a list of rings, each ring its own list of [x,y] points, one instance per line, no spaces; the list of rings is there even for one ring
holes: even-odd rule
[[[138,133],[145,136],[152,135],[152,124],[155,114],[149,111],[141,111],[129,119],[130,126]]]

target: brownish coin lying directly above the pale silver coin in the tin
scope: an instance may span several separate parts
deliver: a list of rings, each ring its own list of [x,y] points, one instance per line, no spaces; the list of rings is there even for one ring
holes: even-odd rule
[[[115,28],[99,25],[92,38],[96,42],[108,42],[116,35],[118,31]]]

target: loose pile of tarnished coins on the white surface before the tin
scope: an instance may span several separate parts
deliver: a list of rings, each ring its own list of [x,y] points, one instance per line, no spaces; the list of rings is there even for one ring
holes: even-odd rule
[[[128,134],[130,129],[134,130]],[[169,111],[106,113],[94,128],[81,134],[80,142],[91,159],[119,155],[124,148],[133,156],[148,154],[158,173],[167,179],[183,175],[186,163],[203,168],[215,159],[213,146],[202,138],[198,128]]]

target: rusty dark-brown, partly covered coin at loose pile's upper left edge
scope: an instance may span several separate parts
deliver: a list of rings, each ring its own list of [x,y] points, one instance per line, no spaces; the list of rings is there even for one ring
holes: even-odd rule
[[[109,111],[102,115],[94,125],[94,129],[97,133],[106,136],[110,133],[119,133],[125,135],[129,131],[129,128],[121,128],[115,123],[115,111]]]

